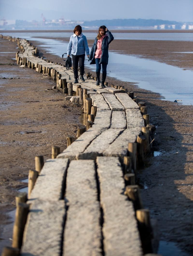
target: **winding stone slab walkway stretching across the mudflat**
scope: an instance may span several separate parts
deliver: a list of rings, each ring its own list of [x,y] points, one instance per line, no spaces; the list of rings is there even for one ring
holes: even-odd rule
[[[23,51],[16,54],[22,67],[40,72],[40,66],[43,74],[52,68],[72,81],[72,70],[36,57],[25,39],[15,41]],[[123,90],[101,88],[91,79],[80,85],[97,106],[94,124],[44,163],[27,201],[21,255],[143,255],[120,163],[144,126],[139,106]]]

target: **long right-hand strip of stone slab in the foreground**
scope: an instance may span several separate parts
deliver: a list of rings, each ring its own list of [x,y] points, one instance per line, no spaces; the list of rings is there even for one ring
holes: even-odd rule
[[[97,157],[96,163],[105,255],[143,255],[133,203],[123,195],[125,185],[118,157]]]

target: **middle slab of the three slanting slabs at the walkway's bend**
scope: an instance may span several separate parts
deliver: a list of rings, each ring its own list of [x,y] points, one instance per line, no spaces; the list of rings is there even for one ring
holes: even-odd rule
[[[93,159],[102,155],[103,151],[111,144],[124,129],[108,129],[96,137],[86,150],[77,155],[77,159]]]

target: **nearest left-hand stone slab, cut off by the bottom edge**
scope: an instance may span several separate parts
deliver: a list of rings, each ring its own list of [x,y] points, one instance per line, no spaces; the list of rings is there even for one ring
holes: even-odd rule
[[[60,256],[65,214],[64,200],[33,201],[20,255]]]

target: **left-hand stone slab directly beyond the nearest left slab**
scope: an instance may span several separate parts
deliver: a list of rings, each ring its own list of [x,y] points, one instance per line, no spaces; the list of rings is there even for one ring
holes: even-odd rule
[[[30,199],[57,201],[63,198],[68,159],[48,159],[36,180]]]

